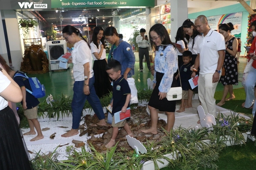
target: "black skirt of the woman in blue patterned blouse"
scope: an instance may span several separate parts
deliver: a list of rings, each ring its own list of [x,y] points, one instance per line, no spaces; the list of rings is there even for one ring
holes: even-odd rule
[[[175,112],[176,107],[176,101],[168,101],[166,98],[163,100],[159,100],[159,90],[158,87],[160,85],[160,82],[164,76],[164,73],[156,72],[156,86],[152,92],[152,95],[150,97],[150,100],[148,102],[148,106],[154,107],[156,109],[159,109],[161,111],[168,111],[168,112]],[[172,80],[172,86],[171,87],[177,87],[177,81],[175,77],[173,76]]]

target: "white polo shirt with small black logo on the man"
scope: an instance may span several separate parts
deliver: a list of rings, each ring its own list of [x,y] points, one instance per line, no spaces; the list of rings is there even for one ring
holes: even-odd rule
[[[218,65],[218,51],[226,49],[223,35],[210,29],[206,36],[202,35],[198,39],[197,46],[197,53],[200,54],[200,74],[214,73]]]

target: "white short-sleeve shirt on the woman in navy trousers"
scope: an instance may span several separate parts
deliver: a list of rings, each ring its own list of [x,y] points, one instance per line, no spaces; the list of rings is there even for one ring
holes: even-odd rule
[[[92,53],[88,44],[84,41],[78,41],[74,44],[72,51],[73,58],[73,74],[75,81],[84,81],[84,64],[90,63],[90,78],[94,76],[92,70]]]

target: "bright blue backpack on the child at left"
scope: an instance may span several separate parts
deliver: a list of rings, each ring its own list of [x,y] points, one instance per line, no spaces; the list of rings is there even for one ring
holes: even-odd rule
[[[17,73],[16,76],[22,76],[24,78],[27,78],[29,81],[29,84],[31,86],[32,92],[26,88],[26,91],[32,94],[35,98],[42,98],[45,96],[45,88],[44,85],[39,82],[39,80],[36,77],[28,77],[25,73],[25,76],[23,74]]]

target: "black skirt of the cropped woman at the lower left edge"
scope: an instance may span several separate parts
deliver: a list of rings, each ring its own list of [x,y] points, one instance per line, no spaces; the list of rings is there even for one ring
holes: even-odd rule
[[[9,106],[0,111],[0,170],[31,170],[17,119]]]

